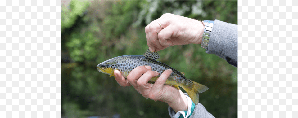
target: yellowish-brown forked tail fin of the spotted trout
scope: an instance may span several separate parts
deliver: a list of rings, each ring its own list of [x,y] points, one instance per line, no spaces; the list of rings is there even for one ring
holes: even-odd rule
[[[199,93],[203,93],[204,91],[208,90],[208,87],[205,85],[201,85],[199,83],[196,83],[194,81],[192,89],[185,87],[183,88],[188,96],[192,99],[192,102],[195,103],[196,105],[199,103]]]

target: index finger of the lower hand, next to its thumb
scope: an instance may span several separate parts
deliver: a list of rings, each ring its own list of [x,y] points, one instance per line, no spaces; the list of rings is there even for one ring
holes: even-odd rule
[[[134,68],[129,75],[127,76],[127,80],[129,83],[138,90],[138,79],[147,71],[151,70],[150,66],[138,66],[137,68]]]

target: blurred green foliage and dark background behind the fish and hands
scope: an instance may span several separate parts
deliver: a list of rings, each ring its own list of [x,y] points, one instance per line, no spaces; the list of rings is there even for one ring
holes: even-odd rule
[[[237,1],[62,1],[62,117],[169,117],[166,103],[121,87],[96,65],[143,55],[144,28],[164,13],[237,24]],[[237,117],[237,68],[200,45],[171,46],[158,61],[209,87],[200,103],[215,117]]]

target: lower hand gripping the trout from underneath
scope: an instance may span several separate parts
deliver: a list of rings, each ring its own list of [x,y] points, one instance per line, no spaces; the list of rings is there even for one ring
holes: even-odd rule
[[[118,70],[114,71],[114,75],[115,80],[121,86],[132,85],[145,98],[168,103],[176,112],[187,111],[187,98],[182,91],[164,85],[172,72],[171,69],[165,70],[154,84],[150,84],[148,81],[159,74],[156,71],[151,71],[150,66],[138,66],[129,73],[127,79],[121,76]]]

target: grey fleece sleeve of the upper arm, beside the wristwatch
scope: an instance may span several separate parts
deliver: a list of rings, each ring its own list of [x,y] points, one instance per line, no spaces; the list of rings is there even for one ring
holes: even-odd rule
[[[215,54],[237,67],[238,63],[238,26],[215,20],[210,34],[206,53]],[[235,65],[236,64],[236,65]]]

